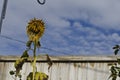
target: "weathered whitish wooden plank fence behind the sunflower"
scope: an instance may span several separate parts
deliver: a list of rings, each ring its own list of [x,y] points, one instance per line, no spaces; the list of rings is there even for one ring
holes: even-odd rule
[[[108,80],[109,63],[114,56],[50,56],[53,65],[48,70],[46,56],[38,57],[37,70],[46,73],[49,80]],[[0,56],[0,80],[14,80],[9,71],[15,70],[14,62],[19,57]],[[23,65],[22,80],[32,71],[30,62]],[[17,79],[19,80],[19,79]],[[120,79],[117,79],[120,80]]]

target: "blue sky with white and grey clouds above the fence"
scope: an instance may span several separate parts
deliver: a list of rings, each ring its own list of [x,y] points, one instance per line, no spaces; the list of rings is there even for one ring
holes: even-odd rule
[[[22,54],[26,46],[19,41],[27,42],[26,26],[34,17],[46,25],[38,54],[113,55],[120,43],[120,0],[8,0],[1,35],[9,39],[0,36],[0,55]]]

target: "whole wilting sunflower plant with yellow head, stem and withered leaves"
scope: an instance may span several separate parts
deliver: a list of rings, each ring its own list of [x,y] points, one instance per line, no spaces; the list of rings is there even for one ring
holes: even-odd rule
[[[40,48],[41,46],[39,39],[44,34],[44,30],[45,30],[45,25],[42,20],[36,18],[30,20],[26,28],[26,32],[29,37],[29,40],[26,43],[27,49],[23,52],[22,56],[14,63],[15,70],[10,71],[10,75],[19,77],[21,80],[22,75],[20,71],[22,70],[24,63],[28,61],[29,58],[28,52],[32,50],[33,60],[31,61],[31,64],[33,67],[33,71],[29,73],[26,80],[48,80],[48,75],[43,72],[38,72],[36,67],[36,60],[37,60],[36,49]],[[31,45],[33,45],[33,48],[31,47]],[[48,55],[46,56],[49,64],[48,67],[49,69],[52,66],[52,61]]]

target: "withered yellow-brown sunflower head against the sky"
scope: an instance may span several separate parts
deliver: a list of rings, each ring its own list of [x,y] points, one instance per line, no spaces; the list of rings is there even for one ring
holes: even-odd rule
[[[40,19],[31,19],[27,25],[26,31],[30,41],[38,41],[45,31],[45,24]]]

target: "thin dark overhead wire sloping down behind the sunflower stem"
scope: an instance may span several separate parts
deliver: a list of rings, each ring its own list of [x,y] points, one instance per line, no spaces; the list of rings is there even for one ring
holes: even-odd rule
[[[1,34],[0,34],[0,37],[5,38],[5,39],[9,39],[9,40],[12,40],[12,41],[16,41],[16,42],[19,42],[19,43],[22,43],[22,44],[26,44],[25,41],[18,40],[18,39],[14,39],[14,38],[8,37],[8,36],[6,36],[6,35],[1,35]],[[58,51],[58,50],[54,50],[54,49],[51,49],[51,48],[48,48],[48,47],[41,47],[41,48],[42,48],[42,49],[49,50],[49,51],[57,52],[57,53],[60,53],[60,54],[64,54],[64,55],[70,55],[69,53],[62,52],[62,51]]]

